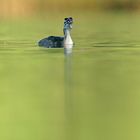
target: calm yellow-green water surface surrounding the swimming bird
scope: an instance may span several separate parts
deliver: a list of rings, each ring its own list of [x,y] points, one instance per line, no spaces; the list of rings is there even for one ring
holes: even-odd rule
[[[139,15],[75,15],[72,56],[62,17],[0,22],[0,139],[139,140]]]

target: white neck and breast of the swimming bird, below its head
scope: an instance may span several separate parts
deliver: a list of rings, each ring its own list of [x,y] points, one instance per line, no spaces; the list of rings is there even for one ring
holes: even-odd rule
[[[68,29],[64,30],[64,45],[73,45],[73,41],[70,36],[70,31]]]

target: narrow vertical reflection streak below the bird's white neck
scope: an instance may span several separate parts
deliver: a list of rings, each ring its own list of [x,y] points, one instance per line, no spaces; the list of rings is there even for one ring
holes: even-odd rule
[[[72,92],[72,48],[64,48],[65,53],[65,117],[67,140],[73,139],[73,92]]]

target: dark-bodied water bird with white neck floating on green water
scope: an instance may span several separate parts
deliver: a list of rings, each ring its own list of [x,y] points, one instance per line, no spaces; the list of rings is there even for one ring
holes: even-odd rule
[[[59,36],[49,36],[47,38],[41,39],[38,42],[40,47],[46,48],[63,48],[66,45],[73,45],[73,41],[70,36],[70,30],[72,29],[73,18],[65,18],[64,19],[64,37]]]

